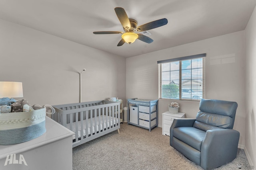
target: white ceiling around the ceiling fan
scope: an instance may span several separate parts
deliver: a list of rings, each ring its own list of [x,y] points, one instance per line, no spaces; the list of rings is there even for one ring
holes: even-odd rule
[[[0,0],[0,18],[122,57],[132,57],[244,30],[256,0]],[[117,47],[123,31],[114,11],[125,9],[138,25],[167,18],[149,30],[153,43]]]

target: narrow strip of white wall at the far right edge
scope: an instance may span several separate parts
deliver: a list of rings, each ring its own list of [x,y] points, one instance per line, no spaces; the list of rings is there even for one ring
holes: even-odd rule
[[[256,165],[256,9],[245,29],[246,45],[246,123],[245,151],[251,165]]]

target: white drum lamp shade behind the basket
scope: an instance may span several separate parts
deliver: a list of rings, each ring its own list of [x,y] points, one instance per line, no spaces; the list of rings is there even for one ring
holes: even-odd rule
[[[22,98],[22,82],[0,82],[0,98]]]

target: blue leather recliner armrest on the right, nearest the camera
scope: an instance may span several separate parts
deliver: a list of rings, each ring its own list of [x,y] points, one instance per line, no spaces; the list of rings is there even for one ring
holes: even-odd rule
[[[240,133],[233,129],[206,131],[201,146],[201,167],[213,169],[236,158]]]

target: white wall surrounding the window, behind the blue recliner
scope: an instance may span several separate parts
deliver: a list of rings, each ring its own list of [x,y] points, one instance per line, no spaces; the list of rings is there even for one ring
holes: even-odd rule
[[[152,43],[154,45],[154,43]],[[126,98],[158,99],[157,61],[206,53],[206,98],[238,103],[234,129],[245,145],[245,47],[244,31],[180,45],[126,59]],[[159,100],[158,125],[173,100]],[[195,118],[199,102],[176,101],[180,112]]]

